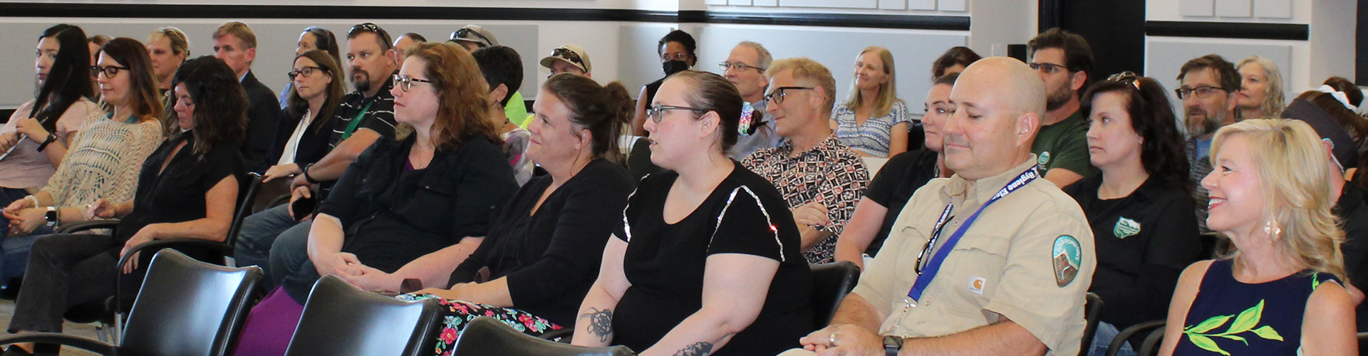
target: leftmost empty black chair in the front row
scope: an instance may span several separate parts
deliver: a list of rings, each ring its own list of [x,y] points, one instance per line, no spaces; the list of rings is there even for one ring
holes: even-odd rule
[[[261,293],[261,268],[222,267],[174,249],[152,257],[119,345],[59,333],[29,333],[0,344],[60,344],[100,355],[227,355]]]

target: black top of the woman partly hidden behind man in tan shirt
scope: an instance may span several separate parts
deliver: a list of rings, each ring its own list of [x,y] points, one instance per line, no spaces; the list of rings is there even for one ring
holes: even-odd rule
[[[878,170],[874,179],[869,181],[865,197],[888,208],[888,214],[884,215],[878,234],[874,236],[874,241],[869,244],[865,253],[878,255],[888,233],[893,230],[893,220],[897,220],[897,214],[903,212],[903,207],[912,199],[912,193],[936,178],[938,174],[936,170],[937,155],[940,153],[926,148],[893,155]]]

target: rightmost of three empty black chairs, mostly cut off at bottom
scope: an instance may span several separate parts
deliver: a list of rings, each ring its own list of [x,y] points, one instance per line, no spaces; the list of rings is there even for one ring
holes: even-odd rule
[[[586,348],[536,338],[494,318],[471,320],[456,340],[453,356],[632,356],[627,346]]]

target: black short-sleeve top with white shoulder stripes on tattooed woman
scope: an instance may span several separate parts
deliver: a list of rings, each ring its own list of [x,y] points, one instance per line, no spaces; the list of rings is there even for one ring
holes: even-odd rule
[[[613,342],[642,352],[702,308],[703,271],[717,253],[780,262],[759,316],[713,355],[778,355],[813,330],[811,275],[788,204],[765,178],[735,163],[683,220],[665,223],[665,199],[679,174],[642,179],[621,229],[631,286],[613,312]],[[747,272],[747,271],[736,271]]]

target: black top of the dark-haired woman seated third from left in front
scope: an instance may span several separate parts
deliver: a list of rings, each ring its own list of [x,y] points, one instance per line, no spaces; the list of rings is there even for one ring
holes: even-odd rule
[[[115,238],[118,244],[111,248],[112,253],[118,255],[123,242],[127,242],[144,226],[204,219],[207,215],[205,194],[224,177],[235,177],[241,189],[246,166],[242,163],[238,145],[218,144],[205,151],[204,155],[196,155],[192,137],[194,137],[193,131],[185,131],[161,142],[142,163],[142,173],[138,174],[138,192],[133,197],[133,211],[119,220]],[[171,156],[171,151],[181,142],[186,145],[176,151],[175,156]],[[171,162],[166,164],[166,168],[161,168],[161,163],[168,159]]]

